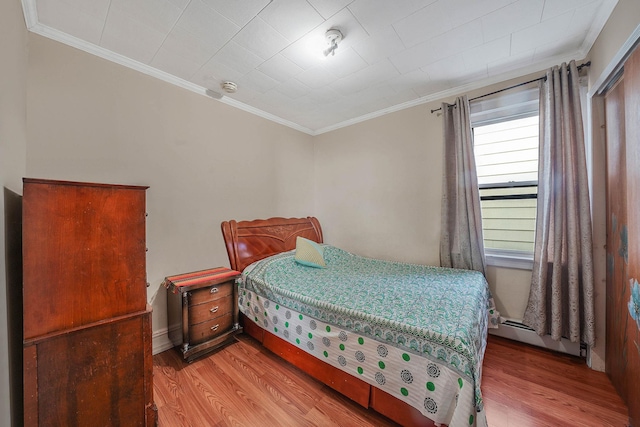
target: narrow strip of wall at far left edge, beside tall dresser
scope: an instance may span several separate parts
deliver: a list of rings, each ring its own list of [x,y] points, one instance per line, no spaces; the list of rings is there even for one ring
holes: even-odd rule
[[[22,424],[22,176],[27,29],[19,0],[0,2],[0,426]]]

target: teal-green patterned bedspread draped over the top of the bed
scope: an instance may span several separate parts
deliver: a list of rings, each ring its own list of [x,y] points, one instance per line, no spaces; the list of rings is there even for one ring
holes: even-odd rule
[[[243,286],[449,366],[474,383],[476,410],[482,410],[482,359],[487,327],[497,324],[497,313],[481,273],[364,258],[329,245],[327,268],[299,265],[294,255],[282,253],[247,267]]]

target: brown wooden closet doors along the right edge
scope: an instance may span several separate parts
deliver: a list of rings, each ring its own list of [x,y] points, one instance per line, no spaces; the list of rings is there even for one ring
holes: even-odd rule
[[[640,425],[640,49],[605,94],[607,138],[606,370]],[[633,298],[632,294],[636,297]]]

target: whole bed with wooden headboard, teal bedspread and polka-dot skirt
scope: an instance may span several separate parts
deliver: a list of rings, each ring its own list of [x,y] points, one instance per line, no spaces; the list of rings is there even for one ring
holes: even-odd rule
[[[323,243],[314,217],[225,221],[244,330],[406,426],[486,426],[480,380],[497,313],[478,272],[369,259]],[[302,238],[302,239],[299,239]],[[300,240],[323,268],[297,261]]]

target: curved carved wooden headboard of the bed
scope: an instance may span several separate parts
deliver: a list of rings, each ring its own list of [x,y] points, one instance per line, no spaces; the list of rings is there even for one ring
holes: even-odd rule
[[[231,268],[242,271],[252,262],[296,247],[301,236],[322,243],[322,229],[315,217],[224,221],[222,236]]]

